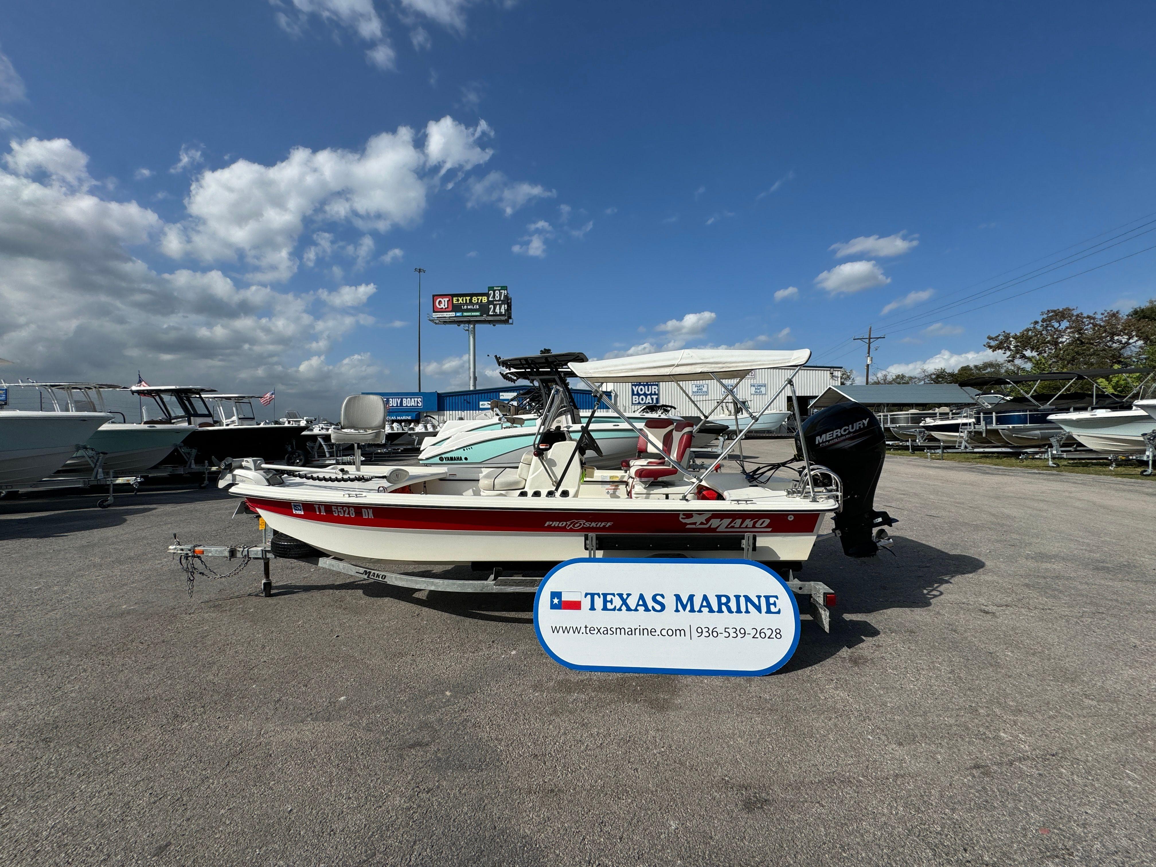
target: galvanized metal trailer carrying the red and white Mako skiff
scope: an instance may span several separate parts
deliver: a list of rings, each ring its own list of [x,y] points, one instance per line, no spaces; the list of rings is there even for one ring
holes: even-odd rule
[[[244,509],[240,503],[237,513]],[[236,513],[234,514],[236,517]],[[258,544],[185,544],[177,534],[172,534],[173,543],[169,546],[169,554],[178,558],[181,570],[188,581],[188,595],[193,594],[193,585],[198,576],[210,580],[221,580],[239,575],[250,563],[260,561],[261,563],[261,594],[273,595],[273,578],[269,566],[274,560],[292,560],[298,563],[328,569],[355,578],[390,584],[395,587],[407,587],[409,590],[425,590],[439,593],[535,593],[538,585],[543,578],[524,577],[518,575],[505,576],[501,566],[492,566],[489,578],[457,579],[457,578],[423,578],[414,575],[401,575],[399,572],[387,572],[370,566],[361,566],[350,563],[341,557],[331,557],[316,551],[306,556],[279,556],[273,551],[273,540],[268,526],[264,518],[258,519],[261,531],[261,541]],[[750,535],[750,534],[747,534]],[[606,536],[602,536],[606,540]],[[729,547],[729,546],[727,546]],[[588,556],[598,556],[599,550],[606,548],[605,543],[599,543],[594,534],[587,534],[586,550]],[[753,550],[753,540],[742,539],[744,553]],[[222,557],[227,561],[237,561],[237,565],[228,572],[217,572],[205,562],[205,557]],[[786,564],[783,564],[784,566]],[[791,564],[793,568],[784,568],[783,581],[794,593],[799,602],[800,612],[805,610],[805,605],[809,605],[812,618],[822,628],[824,632],[831,631],[831,608],[836,605],[836,594],[822,581],[801,581],[795,579],[794,571],[800,564]],[[529,570],[526,570],[529,571]]]

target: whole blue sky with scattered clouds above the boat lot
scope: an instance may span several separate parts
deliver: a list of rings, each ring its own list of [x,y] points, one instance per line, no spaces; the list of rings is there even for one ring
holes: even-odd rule
[[[874,324],[877,365],[950,365],[1045,307],[1156,295],[1153,251],[1000,301],[1153,232],[938,311],[1156,212],[1150,5],[0,10],[8,378],[140,369],[332,413],[414,385],[416,266],[427,298],[510,287],[514,324],[479,334],[499,355],[861,369]],[[460,387],[465,347],[423,328],[424,385]]]

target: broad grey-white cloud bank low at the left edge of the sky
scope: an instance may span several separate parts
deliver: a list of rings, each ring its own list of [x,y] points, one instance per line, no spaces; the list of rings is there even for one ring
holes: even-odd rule
[[[326,361],[372,317],[329,305],[311,312],[312,294],[237,286],[218,271],[154,272],[128,252],[161,234],[151,210],[105,201],[59,175],[12,170],[43,169],[44,154],[65,154],[54,168],[75,178],[86,162],[65,143],[39,160],[35,146],[18,149],[0,170],[0,344],[20,361],[17,376],[132,381],[140,369],[149,381],[276,386],[301,401],[294,408],[332,413],[340,397],[387,372],[368,355]]]

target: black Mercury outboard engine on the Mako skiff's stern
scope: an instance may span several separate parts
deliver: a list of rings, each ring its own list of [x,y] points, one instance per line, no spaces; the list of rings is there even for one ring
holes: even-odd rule
[[[799,437],[798,458],[802,458]],[[883,470],[885,447],[879,418],[861,403],[836,403],[803,420],[812,464],[820,464],[843,480],[843,510],[835,516],[835,532],[849,557],[870,557],[895,519],[876,512],[875,486]],[[882,532],[877,532],[882,531]]]

